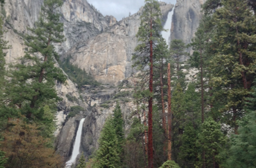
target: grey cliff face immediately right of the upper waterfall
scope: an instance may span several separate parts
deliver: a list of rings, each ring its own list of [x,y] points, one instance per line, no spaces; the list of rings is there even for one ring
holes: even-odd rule
[[[177,0],[172,16],[171,39],[181,39],[191,43],[202,18],[201,5],[206,0]],[[191,49],[188,49],[190,53]],[[185,58],[186,59],[186,58]]]

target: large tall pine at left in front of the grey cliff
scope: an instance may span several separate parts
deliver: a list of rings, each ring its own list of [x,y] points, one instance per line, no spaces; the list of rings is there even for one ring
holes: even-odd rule
[[[55,80],[64,82],[66,79],[61,69],[54,65],[58,55],[53,44],[63,42],[64,37],[57,13],[62,4],[61,0],[44,0],[35,28],[30,28],[31,35],[26,36],[25,56],[10,66],[10,81],[4,90],[4,102],[8,103],[1,111],[2,117],[22,114],[28,120],[44,123],[49,119],[46,113],[55,113],[56,102],[60,100],[54,88]],[[48,112],[44,108],[46,105],[51,109]]]

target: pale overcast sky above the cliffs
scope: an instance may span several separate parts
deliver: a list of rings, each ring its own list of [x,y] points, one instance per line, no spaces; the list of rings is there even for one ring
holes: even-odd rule
[[[161,0],[166,3],[175,4],[176,0]],[[129,12],[132,14],[144,5],[144,0],[87,0],[98,9],[104,16],[112,15],[118,21],[122,18],[129,16]]]

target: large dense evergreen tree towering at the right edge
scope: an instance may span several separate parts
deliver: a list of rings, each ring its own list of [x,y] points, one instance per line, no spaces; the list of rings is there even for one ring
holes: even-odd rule
[[[246,0],[221,1],[221,7],[213,14],[216,33],[211,42],[210,72],[216,90],[215,101],[225,102],[220,111],[236,133],[236,120],[243,115],[245,99],[254,85],[255,19]]]

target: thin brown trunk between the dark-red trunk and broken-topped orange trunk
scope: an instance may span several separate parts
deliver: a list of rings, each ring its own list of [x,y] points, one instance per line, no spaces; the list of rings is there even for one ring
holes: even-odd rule
[[[166,130],[166,116],[165,116],[165,107],[164,107],[164,85],[163,85],[163,59],[161,59],[161,67],[160,67],[160,89],[161,89],[161,101],[162,101],[162,125],[163,125],[163,130],[164,130],[164,137],[166,136],[167,130]],[[165,140],[164,140],[164,155],[165,155]]]

